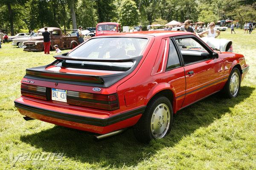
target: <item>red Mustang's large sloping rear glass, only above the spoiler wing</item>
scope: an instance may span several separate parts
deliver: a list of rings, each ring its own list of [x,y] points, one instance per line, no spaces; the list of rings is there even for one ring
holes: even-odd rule
[[[88,40],[67,56],[87,59],[127,59],[140,56],[147,42],[148,39],[145,38],[95,38]]]

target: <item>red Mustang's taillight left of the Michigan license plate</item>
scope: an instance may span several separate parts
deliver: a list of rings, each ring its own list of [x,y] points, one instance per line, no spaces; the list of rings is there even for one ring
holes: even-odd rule
[[[47,100],[46,87],[21,83],[21,95]]]

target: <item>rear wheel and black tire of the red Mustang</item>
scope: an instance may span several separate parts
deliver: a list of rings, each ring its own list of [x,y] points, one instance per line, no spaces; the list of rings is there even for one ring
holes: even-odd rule
[[[145,112],[134,125],[134,135],[140,142],[165,137],[173,121],[172,104],[165,96],[157,96],[148,102]]]

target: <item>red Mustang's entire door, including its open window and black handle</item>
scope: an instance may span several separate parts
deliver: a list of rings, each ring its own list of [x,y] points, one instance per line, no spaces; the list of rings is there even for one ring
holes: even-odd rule
[[[180,47],[186,75],[186,96],[182,107],[221,90],[224,66],[220,58],[195,37],[175,39]]]

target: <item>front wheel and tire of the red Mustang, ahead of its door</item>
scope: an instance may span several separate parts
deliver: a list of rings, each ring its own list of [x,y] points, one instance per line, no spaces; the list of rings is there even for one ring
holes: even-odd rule
[[[238,68],[233,68],[223,88],[224,95],[227,98],[235,98],[239,94],[240,85],[241,85],[240,71]]]

